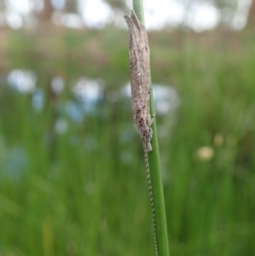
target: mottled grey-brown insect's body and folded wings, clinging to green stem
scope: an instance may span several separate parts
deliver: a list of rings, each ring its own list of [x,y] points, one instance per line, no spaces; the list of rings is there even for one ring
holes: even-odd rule
[[[124,16],[129,29],[129,65],[133,119],[139,129],[144,149],[152,150],[150,118],[150,48],[147,31],[137,16]]]

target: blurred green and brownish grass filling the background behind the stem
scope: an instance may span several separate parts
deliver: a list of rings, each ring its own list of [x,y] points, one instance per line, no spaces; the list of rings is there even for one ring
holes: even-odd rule
[[[181,100],[174,125],[172,113],[157,115],[171,255],[255,253],[255,53],[246,33],[149,35],[153,81],[173,84]],[[59,111],[79,77],[105,79],[105,95],[127,82],[127,31],[13,31],[8,40],[2,73],[36,71],[47,104],[35,111],[31,95],[1,80],[0,254],[152,255],[129,103],[105,97],[82,122]],[[66,82],[57,103],[48,94],[56,73]],[[65,134],[54,130],[60,117]],[[198,153],[203,146],[211,157]]]

